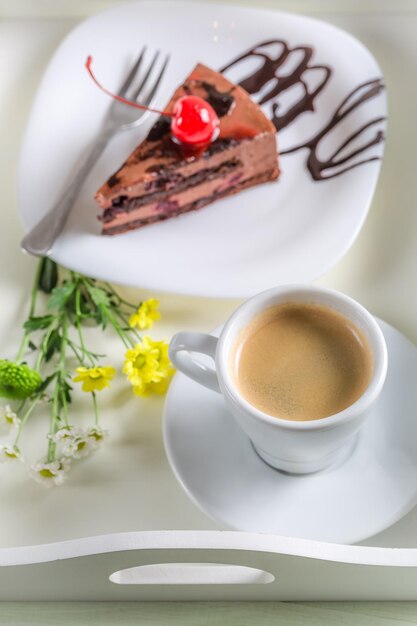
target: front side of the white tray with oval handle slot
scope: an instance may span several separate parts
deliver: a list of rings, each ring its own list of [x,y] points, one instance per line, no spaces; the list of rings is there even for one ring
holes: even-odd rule
[[[0,551],[8,601],[416,599],[417,549],[155,531]]]

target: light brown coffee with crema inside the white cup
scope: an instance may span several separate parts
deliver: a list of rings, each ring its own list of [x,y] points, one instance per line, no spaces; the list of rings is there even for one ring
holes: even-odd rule
[[[254,407],[287,420],[339,413],[366,390],[372,352],[359,328],[337,311],[286,303],[256,316],[233,351],[233,374]]]

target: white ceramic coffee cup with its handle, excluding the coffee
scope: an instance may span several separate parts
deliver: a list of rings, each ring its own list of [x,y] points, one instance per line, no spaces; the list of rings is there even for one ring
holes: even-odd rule
[[[285,302],[320,304],[336,310],[368,339],[373,355],[371,380],[360,398],[343,411],[322,419],[291,421],[260,411],[240,394],[232,375],[232,353],[238,335],[260,312]],[[190,352],[210,356],[215,368]],[[223,395],[230,413],[266,463],[295,474],[322,470],[348,455],[382,390],[388,366],[382,331],[363,306],[336,291],[298,285],[269,289],[247,300],[227,320],[218,339],[203,333],[178,333],[172,338],[169,355],[178,370]]]

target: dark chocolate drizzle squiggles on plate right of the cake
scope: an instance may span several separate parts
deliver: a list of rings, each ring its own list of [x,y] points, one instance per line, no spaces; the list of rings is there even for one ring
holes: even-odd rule
[[[277,48],[275,55],[271,52],[271,47]],[[293,56],[293,55],[297,56]],[[226,72],[232,67],[245,64],[249,59],[260,60],[260,65],[250,75],[239,82],[239,85],[246,89],[251,95],[259,95],[259,105],[271,102],[270,117],[277,131],[292,124],[300,115],[307,112],[314,112],[315,100],[329,82],[333,70],[328,65],[317,65],[312,63],[314,49],[311,46],[295,46],[291,48],[282,39],[271,39],[261,42],[237,57],[220,71]],[[297,58],[298,57],[298,58]],[[296,59],[296,63],[290,72],[285,70],[285,64],[290,59]],[[309,87],[307,77],[316,74],[316,82],[313,87]],[[289,89],[301,87],[301,97],[284,113],[280,112],[280,96]],[[347,154],[342,154],[349,146],[360,138],[368,129],[383,122],[385,117],[377,117],[364,124],[357,131],[352,133],[329,157],[321,159],[318,156],[320,142],[340,124],[352,111],[378,96],[385,88],[383,80],[375,78],[369,80],[353,89],[346,98],[336,108],[335,113],[329,121],[312,138],[302,144],[281,151],[281,155],[290,154],[306,148],[309,150],[306,165],[315,181],[327,180],[340,176],[344,172],[359,165],[371,161],[380,160],[379,156],[355,160],[361,154],[366,153],[373,146],[384,140],[384,133],[381,129],[376,129],[373,137],[364,140],[358,147],[351,149]]]

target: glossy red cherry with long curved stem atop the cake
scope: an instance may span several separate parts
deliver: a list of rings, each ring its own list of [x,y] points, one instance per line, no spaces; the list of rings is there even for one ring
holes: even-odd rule
[[[220,125],[219,118],[213,107],[203,100],[203,98],[199,98],[198,96],[183,96],[175,103],[172,113],[159,111],[158,109],[153,109],[143,104],[127,100],[103,87],[93,74],[93,70],[91,69],[92,63],[93,57],[88,56],[85,64],[87,71],[96,85],[104,91],[104,93],[136,109],[170,117],[172,120],[172,134],[180,144],[186,144],[190,147],[201,147],[214,141],[218,136]]]

